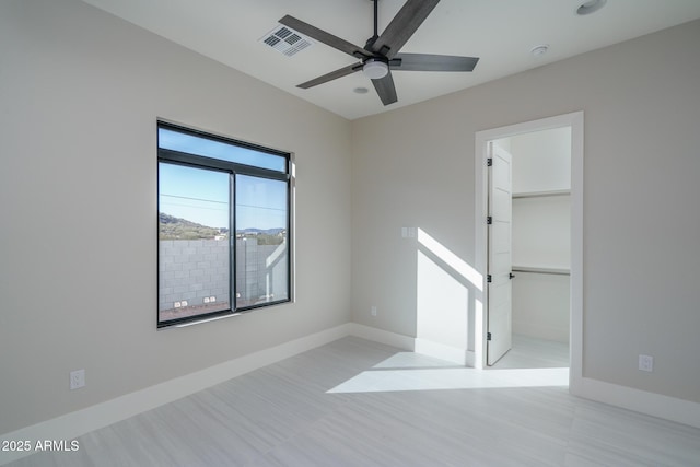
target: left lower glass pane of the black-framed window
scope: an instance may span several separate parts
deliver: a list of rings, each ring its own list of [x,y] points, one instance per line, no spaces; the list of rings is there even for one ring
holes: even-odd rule
[[[159,163],[159,322],[229,310],[230,175]]]

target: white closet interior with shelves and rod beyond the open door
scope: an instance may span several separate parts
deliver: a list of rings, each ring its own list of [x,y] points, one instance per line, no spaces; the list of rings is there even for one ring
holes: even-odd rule
[[[569,342],[571,128],[498,140],[512,159],[514,336]]]

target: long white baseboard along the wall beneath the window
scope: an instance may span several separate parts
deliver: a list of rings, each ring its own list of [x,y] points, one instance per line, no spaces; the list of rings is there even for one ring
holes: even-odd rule
[[[93,430],[133,417],[190,394],[223,383],[253,370],[288,359],[301,352],[324,346],[351,334],[352,325],[345,324],[305,336],[269,349],[200,370],[155,386],[126,394],[74,412],[46,420],[10,433],[0,434],[0,443],[31,441],[34,446],[40,440],[73,440]],[[32,452],[0,452],[0,465],[8,464]]]

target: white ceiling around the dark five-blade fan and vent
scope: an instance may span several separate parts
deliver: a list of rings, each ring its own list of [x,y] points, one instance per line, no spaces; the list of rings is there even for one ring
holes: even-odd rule
[[[471,73],[394,72],[398,102],[383,106],[354,73],[308,90],[296,84],[358,62],[324,44],[287,57],[260,38],[290,14],[350,43],[372,35],[370,0],[83,0],[349,119],[464,90],[700,17],[700,0],[442,0],[401,51],[480,57]],[[405,0],[380,0],[380,34]],[[548,44],[539,58],[530,49]],[[650,63],[652,66],[652,63]],[[357,94],[355,87],[368,87]]]

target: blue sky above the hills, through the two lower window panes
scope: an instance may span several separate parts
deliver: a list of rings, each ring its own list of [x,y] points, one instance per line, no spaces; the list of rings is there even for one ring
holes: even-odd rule
[[[160,212],[210,227],[229,226],[229,179],[213,172],[161,162]],[[236,175],[236,229],[285,229],[287,183]]]

